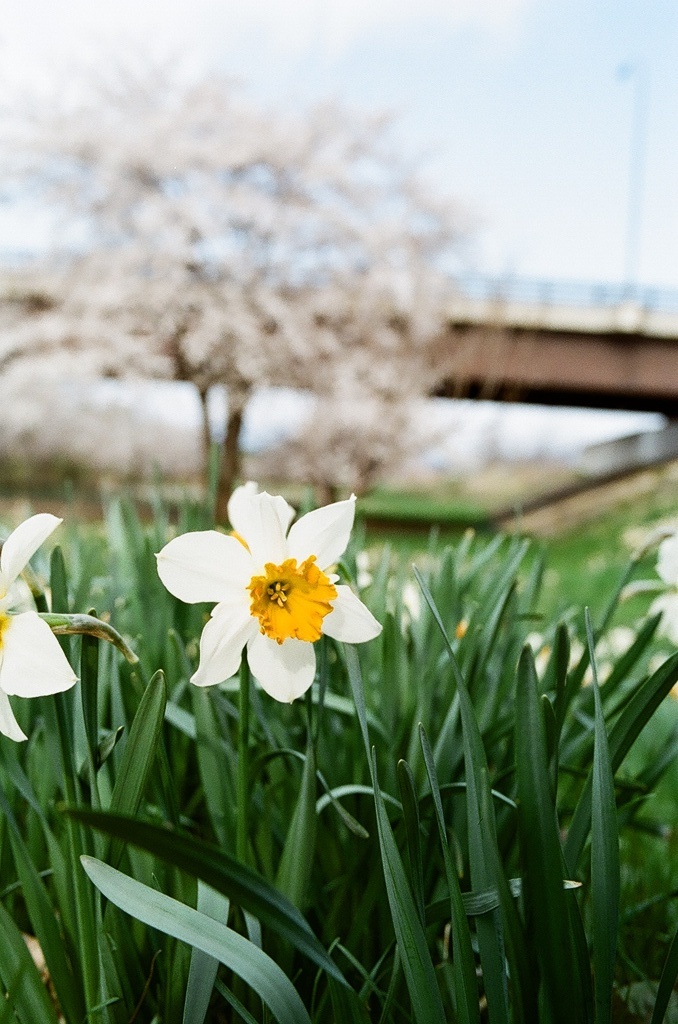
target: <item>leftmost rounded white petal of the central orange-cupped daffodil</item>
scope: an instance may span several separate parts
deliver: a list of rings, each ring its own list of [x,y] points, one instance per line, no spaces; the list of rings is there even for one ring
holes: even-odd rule
[[[240,541],[215,529],[182,534],[156,555],[158,574],[181,601],[236,601],[253,575],[252,558]]]

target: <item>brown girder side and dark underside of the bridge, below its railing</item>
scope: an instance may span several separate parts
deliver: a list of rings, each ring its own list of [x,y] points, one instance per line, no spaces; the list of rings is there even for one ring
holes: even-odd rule
[[[678,339],[457,326],[436,394],[678,416]]]

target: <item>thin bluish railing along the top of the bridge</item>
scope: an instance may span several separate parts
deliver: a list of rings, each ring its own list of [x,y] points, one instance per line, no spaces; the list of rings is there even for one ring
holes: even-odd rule
[[[633,303],[658,312],[678,313],[678,289],[646,285],[543,281],[537,278],[490,278],[459,274],[455,285],[469,299],[524,302],[529,305],[609,307]]]

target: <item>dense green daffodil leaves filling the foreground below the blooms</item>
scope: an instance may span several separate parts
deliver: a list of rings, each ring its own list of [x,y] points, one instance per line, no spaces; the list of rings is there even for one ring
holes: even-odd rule
[[[210,609],[158,580],[168,519],[112,503],[38,594],[81,682],[14,701],[29,741],[0,736],[0,1021],[602,1024],[642,1019],[640,983],[675,1019],[678,654],[656,616],[610,644],[643,566],[587,629],[545,615],[520,539],[431,543],[418,607],[373,552],[381,637],[323,638],[284,706],[246,670],[189,683]],[[92,607],[115,634],[72,635]]]

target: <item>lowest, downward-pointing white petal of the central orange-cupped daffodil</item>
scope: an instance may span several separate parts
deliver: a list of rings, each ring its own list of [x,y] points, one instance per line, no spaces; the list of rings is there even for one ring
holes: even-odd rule
[[[282,644],[257,633],[247,646],[252,675],[274,700],[291,703],[315,678],[312,643],[290,638]]]

